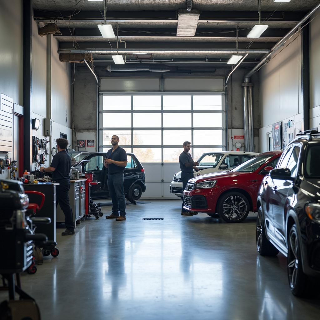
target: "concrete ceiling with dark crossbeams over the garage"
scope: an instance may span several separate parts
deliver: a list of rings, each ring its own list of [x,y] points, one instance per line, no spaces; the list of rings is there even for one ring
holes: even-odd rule
[[[126,42],[127,49],[150,51],[148,56],[128,54],[128,61],[171,60],[173,63],[185,60],[204,63],[208,60],[210,65],[215,61],[221,66],[231,56],[230,53],[204,54],[195,50],[235,50],[236,28],[239,49],[269,50],[319,0],[291,0],[289,3],[261,0],[261,24],[268,24],[269,27],[258,39],[246,37],[258,23],[258,0],[188,0],[190,2],[193,10],[200,11],[195,36],[176,36],[178,10],[186,9],[186,0],[107,0],[106,23],[112,25],[115,34],[118,27],[118,38]],[[104,23],[104,2],[33,0],[33,7],[39,27],[54,22],[60,28],[61,35],[54,36],[59,41],[60,50],[92,50],[95,66],[112,63],[108,50],[116,47],[116,38],[103,38],[97,28],[98,24]],[[118,46],[124,49],[123,43],[118,43]],[[170,49],[183,50],[183,53],[165,52]],[[97,50],[102,50],[102,53],[96,53]],[[156,53],[152,53],[152,50],[156,50]],[[254,61],[259,61],[265,53],[258,52],[250,52],[244,64],[254,65]],[[192,65],[195,66],[195,63]]]

